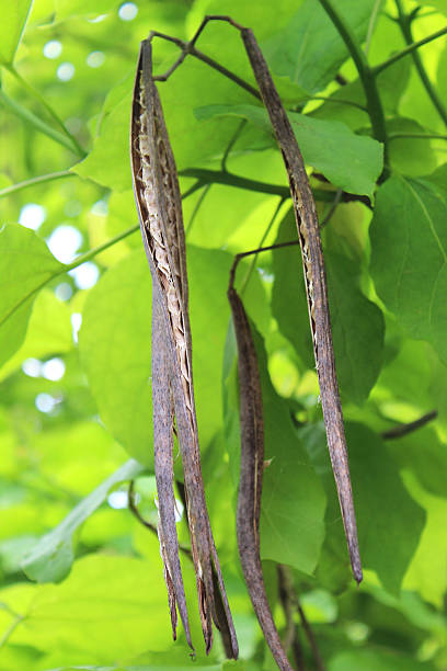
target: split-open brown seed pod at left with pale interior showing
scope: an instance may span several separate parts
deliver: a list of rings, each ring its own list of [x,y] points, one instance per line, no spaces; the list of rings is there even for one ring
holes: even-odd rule
[[[225,591],[203,487],[194,403],[192,344],[187,311],[186,252],[175,162],[160,99],[152,78],[150,38],[141,43],[134,90],[130,156],[134,193],[146,255],[152,275],[152,397],[159,536],[171,622],[175,638],[175,603],[192,646],[175,527],[172,432],[173,416],[182,455],[186,512],[196,572],[198,607],[206,651],[213,645],[213,621],[236,632]],[[224,605],[216,611],[213,566]]]

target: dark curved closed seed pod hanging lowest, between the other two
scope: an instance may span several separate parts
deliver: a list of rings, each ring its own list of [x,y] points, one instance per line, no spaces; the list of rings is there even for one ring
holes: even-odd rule
[[[260,556],[260,516],[264,470],[264,418],[257,357],[247,314],[234,286],[236,258],[230,273],[228,299],[238,344],[240,390],[241,462],[239,476],[237,534],[247,589],[265,640],[282,671],[293,667],[280,642],[265,592]]]

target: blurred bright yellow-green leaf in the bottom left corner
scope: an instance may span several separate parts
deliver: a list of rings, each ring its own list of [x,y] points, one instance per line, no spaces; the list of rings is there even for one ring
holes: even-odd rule
[[[50,651],[57,633],[66,659],[93,664],[114,664],[148,648],[165,650],[172,632],[158,553],[153,538],[150,560],[83,557],[61,584],[32,585],[28,605],[21,609],[3,590],[0,600],[25,616],[14,644]]]

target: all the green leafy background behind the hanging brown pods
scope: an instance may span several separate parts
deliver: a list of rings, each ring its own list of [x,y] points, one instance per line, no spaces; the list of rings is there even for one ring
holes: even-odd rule
[[[262,556],[278,625],[284,630],[283,564],[330,671],[447,668],[446,42],[378,69],[412,38],[439,31],[447,4],[334,5],[376,67],[383,173],[365,82],[316,0],[35,0],[31,11],[28,0],[4,3],[1,671],[191,666],[183,634],[171,640],[158,541],[127,510],[136,479],[140,512],[157,520],[150,280],[128,124],[139,41],[151,29],[188,38],[206,13],[253,29],[325,223],[366,571],[357,590],[326,456],[299,252],[278,249],[239,271],[261,353],[271,459]],[[209,25],[198,46],[253,81],[228,25]],[[157,42],[157,71],[176,56]],[[268,670],[237,558],[239,420],[226,288],[234,253],[290,240],[296,229],[280,156],[249,93],[192,58],[160,91],[182,192],[191,190],[184,212],[204,476],[241,646],[237,663],[224,661],[219,641],[204,658],[185,559],[195,668]],[[385,440],[432,410],[436,422]],[[187,543],[184,521],[179,533]],[[316,668],[299,637],[307,668]]]

